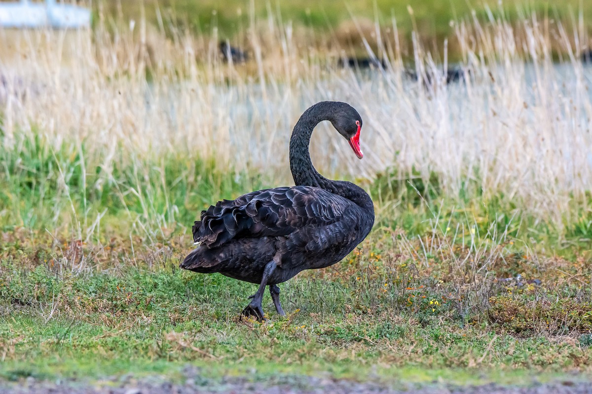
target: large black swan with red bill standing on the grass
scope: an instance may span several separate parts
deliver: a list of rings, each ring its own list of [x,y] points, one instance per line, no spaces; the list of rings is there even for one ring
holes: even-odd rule
[[[308,108],[290,139],[290,169],[295,186],[252,191],[236,200],[218,201],[192,227],[198,246],[181,268],[220,272],[260,284],[243,315],[265,320],[265,286],[278,314],[278,283],[304,269],[325,268],[343,259],[368,235],[374,206],[359,186],[324,178],[313,167],[308,144],[314,127],[330,121],[358,158],[362,118],[346,103],[320,102]]]

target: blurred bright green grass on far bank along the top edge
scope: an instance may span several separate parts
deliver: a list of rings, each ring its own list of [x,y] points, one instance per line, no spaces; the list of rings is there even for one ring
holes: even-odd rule
[[[118,14],[115,1],[105,1],[104,6],[113,15]],[[141,14],[140,1],[128,1],[122,4],[121,11],[126,18],[138,18]],[[411,4],[413,17],[408,12]],[[397,18],[397,27],[404,37],[413,30],[412,19],[415,19],[419,31],[425,37],[445,37],[451,34],[451,21],[471,18],[471,11],[482,21],[488,20],[485,5],[494,13],[505,15],[509,21],[516,21],[525,15],[535,12],[539,17],[557,17],[569,22],[570,15],[580,10],[581,2],[568,0],[555,4],[545,0],[531,2],[506,1],[500,8],[497,1],[466,2],[459,0],[437,1],[427,0],[410,3],[408,1],[375,1],[376,8],[369,6],[367,1],[299,1],[297,3],[279,2],[268,6],[265,2],[255,2],[255,16],[266,17],[271,11],[275,16],[281,16],[284,21],[294,21],[297,25],[313,28],[318,31],[328,31],[339,26],[340,22],[352,17],[378,18],[382,25],[391,25],[391,18]],[[161,12],[178,25],[187,25],[198,33],[209,34],[216,27],[220,35],[232,36],[242,32],[249,25],[249,3],[244,1],[229,1],[222,6],[217,1],[160,1]],[[375,11],[378,13],[376,14]],[[585,21],[590,25],[592,21],[592,7],[583,8]],[[144,6],[149,21],[156,22],[156,11],[152,5]]]

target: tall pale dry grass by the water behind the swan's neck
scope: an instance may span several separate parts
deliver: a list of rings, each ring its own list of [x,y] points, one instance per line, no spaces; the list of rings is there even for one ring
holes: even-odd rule
[[[303,45],[306,37],[273,17],[252,20],[253,61],[244,65],[223,63],[215,37],[167,38],[141,20],[107,28],[99,19],[92,32],[3,31],[0,53],[12,56],[1,65],[0,138],[17,153],[35,135],[54,149],[86,144],[85,167],[100,167],[105,178],[117,162],[136,162],[141,172],[144,158],[172,152],[288,183],[298,116],[319,100],[343,100],[365,120],[366,159],[353,160],[323,125],[311,145],[321,172],[436,174],[449,196],[473,183],[472,193],[503,194],[539,219],[577,220],[570,212],[585,209],[592,183],[590,69],[578,61],[587,37],[535,17],[519,31],[493,18],[458,25],[454,40],[470,77],[448,86],[435,78],[427,87],[404,77],[396,34],[379,37],[387,69],[360,75],[336,67],[339,48]],[[552,57],[556,45],[568,54],[561,63]],[[447,67],[419,44],[415,60],[420,74]]]

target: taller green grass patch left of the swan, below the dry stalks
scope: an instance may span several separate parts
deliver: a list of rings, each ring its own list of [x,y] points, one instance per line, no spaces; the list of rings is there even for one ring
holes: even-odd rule
[[[0,152],[4,228],[55,228],[63,223],[62,229],[74,231],[78,222],[91,227],[105,209],[104,222],[123,226],[120,233],[129,230],[126,222],[136,219],[191,223],[196,211],[216,199],[262,187],[260,175],[227,176],[213,160],[187,162],[181,154],[140,159],[117,146],[112,165],[105,165],[107,152],[91,151],[84,141],[55,147],[37,133],[19,138],[14,148]]]

